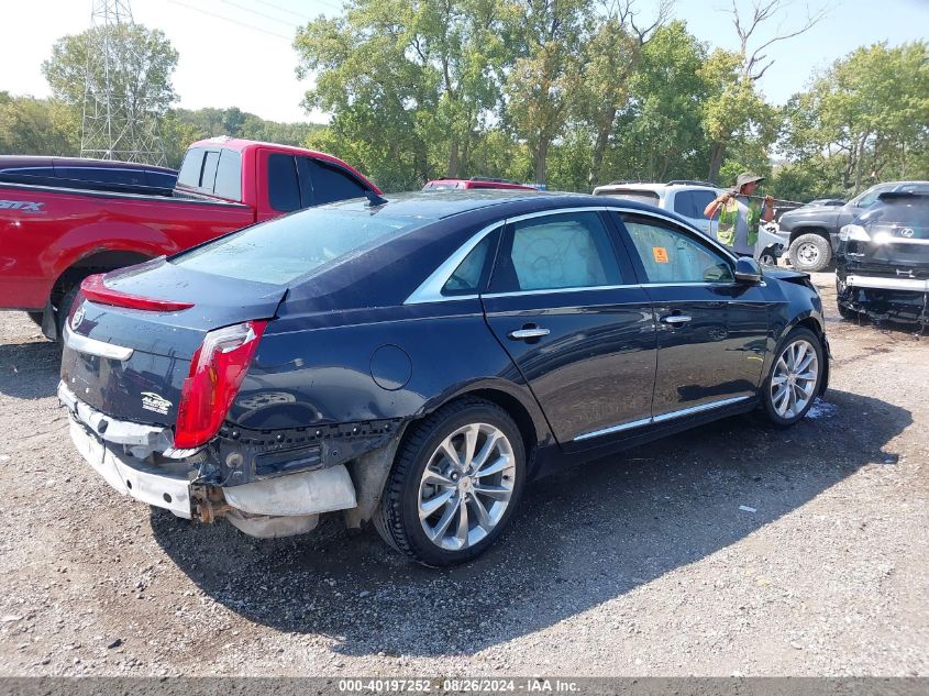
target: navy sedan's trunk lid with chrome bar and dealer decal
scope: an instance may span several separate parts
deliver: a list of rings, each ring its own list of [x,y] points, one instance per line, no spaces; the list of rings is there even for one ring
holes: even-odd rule
[[[180,311],[152,311],[81,294],[67,321],[62,379],[68,388],[112,418],[159,426],[176,422],[191,357],[207,332],[270,319],[287,292],[281,286],[179,268],[164,258],[109,274],[106,287],[192,303]]]

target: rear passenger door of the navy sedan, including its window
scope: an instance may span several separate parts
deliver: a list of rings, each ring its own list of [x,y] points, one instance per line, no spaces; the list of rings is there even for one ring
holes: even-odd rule
[[[608,444],[651,417],[652,308],[602,216],[508,221],[482,295],[487,324],[562,444]]]

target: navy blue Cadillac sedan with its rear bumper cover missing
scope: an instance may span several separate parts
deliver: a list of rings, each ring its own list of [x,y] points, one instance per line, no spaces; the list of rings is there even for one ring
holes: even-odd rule
[[[353,200],[93,276],[58,395],[123,494],[247,534],[341,510],[473,559],[530,479],[826,389],[808,276],[683,218],[517,191]]]

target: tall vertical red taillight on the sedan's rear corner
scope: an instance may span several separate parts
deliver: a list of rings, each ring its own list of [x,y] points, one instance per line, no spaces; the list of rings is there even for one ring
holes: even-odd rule
[[[219,432],[267,323],[246,321],[210,331],[203,339],[180,393],[175,448],[199,446]]]

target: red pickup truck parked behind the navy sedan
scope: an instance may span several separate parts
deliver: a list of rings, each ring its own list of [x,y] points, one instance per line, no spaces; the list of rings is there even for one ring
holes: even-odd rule
[[[169,196],[0,181],[0,310],[25,310],[55,338],[91,274],[368,191],[380,194],[331,155],[229,137],[193,143]]]

